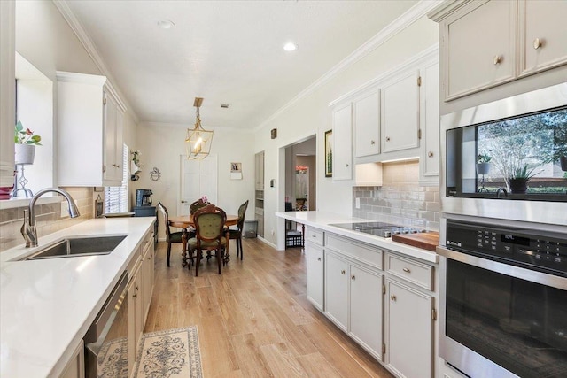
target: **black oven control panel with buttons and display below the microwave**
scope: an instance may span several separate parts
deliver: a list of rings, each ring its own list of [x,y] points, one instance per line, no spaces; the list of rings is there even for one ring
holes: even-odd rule
[[[447,220],[447,249],[567,274],[567,235]]]

